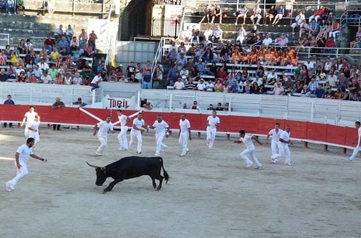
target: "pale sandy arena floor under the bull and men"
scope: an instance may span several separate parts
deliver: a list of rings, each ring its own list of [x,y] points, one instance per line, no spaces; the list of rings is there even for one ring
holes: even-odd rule
[[[264,164],[256,170],[239,157],[244,145],[217,137],[209,150],[195,138],[181,158],[173,135],[164,140],[170,180],[160,191],[143,176],[102,194],[111,180],[96,186],[85,161],[103,166],[131,155],[117,151],[118,132],[103,157],[95,157],[90,129],[41,132],[35,153],[48,163],[30,158],[29,175],[6,192],[25,138],[22,129],[0,131],[0,237],[361,237],[361,160],[344,162],[341,149],[296,144],[288,167],[283,158],[269,162],[269,145],[256,145]],[[143,136],[143,156],[155,152],[153,135]]]

